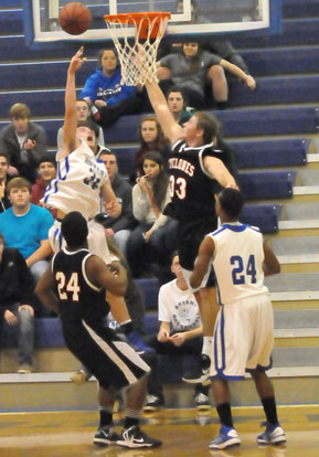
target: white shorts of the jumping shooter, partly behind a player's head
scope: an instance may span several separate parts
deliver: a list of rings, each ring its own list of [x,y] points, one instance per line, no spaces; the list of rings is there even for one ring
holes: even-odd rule
[[[98,255],[106,264],[110,264],[118,258],[111,255],[108,251],[107,241],[105,237],[104,227],[94,220],[87,223],[88,226],[88,251],[92,254]],[[57,253],[66,246],[65,240],[61,233],[61,222],[54,221],[54,224],[49,231],[49,241],[52,249]]]

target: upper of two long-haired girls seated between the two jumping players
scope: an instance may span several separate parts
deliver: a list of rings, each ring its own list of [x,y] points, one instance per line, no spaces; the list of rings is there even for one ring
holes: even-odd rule
[[[170,145],[166,139],[161,126],[159,125],[155,115],[147,115],[141,119],[138,128],[138,139],[140,142],[139,149],[135,153],[135,173],[130,177],[130,181],[135,182],[137,177],[143,176],[142,159],[149,151],[159,152],[164,166],[167,166],[170,153]]]

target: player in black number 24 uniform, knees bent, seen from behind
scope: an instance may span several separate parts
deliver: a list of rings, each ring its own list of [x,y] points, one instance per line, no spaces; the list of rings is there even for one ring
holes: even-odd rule
[[[113,270],[87,249],[87,223],[81,213],[68,213],[62,222],[66,248],[55,254],[51,268],[40,279],[36,294],[43,304],[60,313],[70,351],[98,380],[99,427],[96,445],[157,447],[139,428],[149,366],[114,330],[104,325],[109,306],[105,290],[123,296],[126,272],[118,263]],[[59,298],[54,294],[57,290]],[[113,429],[113,405],[118,390],[127,387],[127,410],[120,435]]]

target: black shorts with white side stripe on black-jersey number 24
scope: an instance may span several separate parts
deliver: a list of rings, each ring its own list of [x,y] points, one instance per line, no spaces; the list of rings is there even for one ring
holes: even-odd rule
[[[135,384],[150,368],[114,330],[100,326],[63,325],[70,351],[95,375],[104,389]]]

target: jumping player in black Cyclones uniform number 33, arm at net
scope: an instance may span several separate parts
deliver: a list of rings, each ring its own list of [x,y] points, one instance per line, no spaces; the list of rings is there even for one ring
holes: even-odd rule
[[[196,111],[181,127],[170,113],[164,95],[155,82],[146,83],[148,96],[162,130],[171,141],[169,158],[171,203],[164,214],[179,221],[178,249],[183,276],[189,278],[198,249],[204,235],[217,227],[214,193],[220,187],[237,188],[226,168],[228,157],[214,149],[219,132],[217,120],[206,113]],[[209,378],[213,329],[217,312],[214,281],[209,275],[195,291],[203,322],[203,353],[201,364],[183,380],[191,383]],[[209,287],[210,286],[210,287]]]

